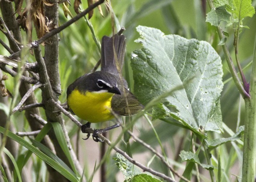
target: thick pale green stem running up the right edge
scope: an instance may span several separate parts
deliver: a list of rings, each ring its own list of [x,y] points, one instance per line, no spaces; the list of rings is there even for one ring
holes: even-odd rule
[[[245,101],[244,156],[242,182],[254,181],[256,171],[256,37],[250,80],[251,99]]]

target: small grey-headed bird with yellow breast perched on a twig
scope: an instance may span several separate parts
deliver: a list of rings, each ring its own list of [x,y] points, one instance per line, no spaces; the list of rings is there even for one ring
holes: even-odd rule
[[[129,91],[127,81],[121,75],[124,53],[124,35],[103,36],[100,71],[87,73],[68,86],[69,111],[87,121],[81,127],[83,133],[85,128],[90,128],[91,123],[112,120],[115,115],[131,116],[143,110],[144,106]],[[102,142],[97,134],[118,126],[119,124],[116,124],[104,129],[95,129],[92,135],[93,140]],[[89,136],[90,134],[86,139]]]

